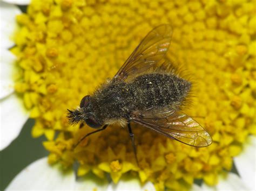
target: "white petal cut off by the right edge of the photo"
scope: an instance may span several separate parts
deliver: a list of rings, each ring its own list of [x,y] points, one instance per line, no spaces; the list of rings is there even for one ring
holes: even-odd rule
[[[248,188],[256,190],[256,137],[250,136],[248,143],[245,145],[242,153],[234,158],[234,164],[242,181]]]

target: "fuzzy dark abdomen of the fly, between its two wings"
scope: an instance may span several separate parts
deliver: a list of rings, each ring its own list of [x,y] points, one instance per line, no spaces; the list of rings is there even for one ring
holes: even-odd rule
[[[178,105],[184,100],[191,83],[172,74],[144,74],[130,83],[137,109]]]

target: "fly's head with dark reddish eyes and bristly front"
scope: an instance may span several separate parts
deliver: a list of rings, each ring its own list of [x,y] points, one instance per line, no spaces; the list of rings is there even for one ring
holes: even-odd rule
[[[75,110],[69,110],[68,118],[71,124],[85,122],[93,129],[97,129],[103,124],[100,122],[95,114],[95,107],[93,106],[92,98],[90,95],[86,95],[80,102],[80,108]]]

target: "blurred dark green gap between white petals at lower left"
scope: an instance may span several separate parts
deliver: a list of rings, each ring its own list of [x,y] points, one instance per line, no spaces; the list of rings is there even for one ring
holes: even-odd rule
[[[19,136],[3,151],[0,151],[0,190],[4,190],[14,177],[31,162],[48,155],[42,145],[44,137],[32,138],[35,120],[29,119]]]

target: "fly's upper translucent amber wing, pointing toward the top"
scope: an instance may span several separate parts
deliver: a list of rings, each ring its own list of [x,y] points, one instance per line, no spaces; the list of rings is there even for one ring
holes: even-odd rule
[[[156,69],[164,58],[172,38],[172,27],[160,25],[150,31],[114,76],[116,80],[129,81],[147,70]]]

